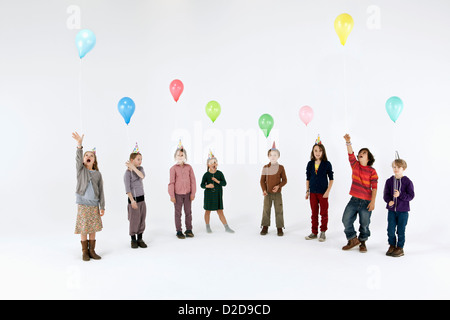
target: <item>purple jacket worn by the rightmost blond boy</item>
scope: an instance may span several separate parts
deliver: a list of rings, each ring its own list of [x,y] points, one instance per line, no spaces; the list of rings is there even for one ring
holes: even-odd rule
[[[400,195],[394,198],[394,183],[397,186]],[[408,177],[403,176],[401,179],[395,179],[394,176],[386,180],[384,185],[383,199],[387,203],[386,209],[390,211],[405,212],[409,211],[409,202],[414,199],[414,185]],[[389,202],[394,201],[392,207]]]

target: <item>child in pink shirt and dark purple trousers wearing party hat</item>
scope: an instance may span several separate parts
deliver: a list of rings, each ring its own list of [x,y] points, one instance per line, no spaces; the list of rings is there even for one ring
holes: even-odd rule
[[[175,208],[175,228],[178,239],[192,238],[192,209],[191,203],[197,191],[194,170],[186,163],[187,154],[181,141],[174,154],[177,162],[170,168],[169,196]],[[183,234],[181,226],[181,209],[184,206],[186,232]]]

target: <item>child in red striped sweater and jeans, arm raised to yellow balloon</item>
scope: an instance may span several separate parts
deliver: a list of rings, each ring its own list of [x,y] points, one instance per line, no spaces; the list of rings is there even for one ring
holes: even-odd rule
[[[372,164],[375,158],[367,148],[359,150],[358,157],[355,157],[350,142],[350,135],[344,136],[347,145],[348,160],[352,167],[352,186],[350,195],[352,198],[345,207],[342,223],[348,243],[342,250],[350,250],[359,246],[360,252],[367,252],[366,241],[370,236],[369,224],[370,216],[375,209],[375,198],[377,196],[378,175]],[[359,215],[359,237],[356,237],[356,231],[353,223]]]

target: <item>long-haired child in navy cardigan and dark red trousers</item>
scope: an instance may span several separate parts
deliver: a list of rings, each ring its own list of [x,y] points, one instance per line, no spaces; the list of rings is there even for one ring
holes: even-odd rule
[[[330,183],[328,183],[328,179]],[[317,239],[319,233],[319,209],[321,224],[319,241],[326,239],[325,231],[328,229],[328,196],[333,186],[333,168],[327,159],[325,146],[317,138],[311,150],[310,161],[306,166],[306,196],[311,206],[311,234],[306,240]]]

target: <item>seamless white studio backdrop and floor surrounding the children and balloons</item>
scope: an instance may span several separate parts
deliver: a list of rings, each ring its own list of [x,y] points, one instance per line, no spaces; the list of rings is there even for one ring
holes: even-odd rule
[[[448,298],[449,10],[445,0],[2,0],[1,297]],[[355,21],[345,47],[333,27],[344,12]],[[97,37],[81,64],[77,28]],[[178,103],[169,92],[174,79],[185,86]],[[405,106],[395,125],[385,111],[394,95]],[[128,129],[117,110],[124,96],[136,103]],[[222,107],[214,124],[204,109],[210,100]],[[303,105],[315,112],[308,127],[298,117]],[[263,113],[275,120],[267,140],[258,127]],[[89,263],[73,234],[71,132],[81,126],[85,148],[97,149],[106,197],[103,259]],[[364,256],[340,249],[351,185],[347,132],[355,150],[370,148],[380,177]],[[303,240],[305,168],[317,134],[335,174],[328,240],[320,244]],[[209,148],[218,157],[234,235],[215,215],[214,233],[204,232],[199,188],[196,237],[176,239],[167,184],[179,138],[198,184]],[[288,177],[286,233],[278,238],[272,228],[262,238],[259,178],[273,140]],[[147,172],[149,248],[131,252],[122,177],[136,141]],[[396,260],[384,256],[382,199],[395,150],[416,190],[406,255]]]

